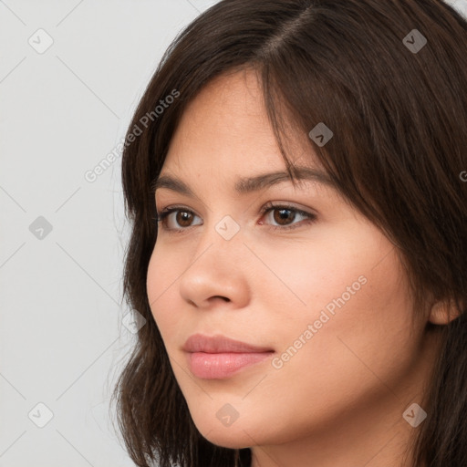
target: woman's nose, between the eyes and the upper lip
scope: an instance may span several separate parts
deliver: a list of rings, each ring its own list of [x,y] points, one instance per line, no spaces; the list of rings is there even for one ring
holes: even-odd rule
[[[238,233],[231,240],[224,240],[214,228],[212,230],[203,235],[190,265],[182,274],[180,294],[184,301],[201,309],[247,306],[251,254],[248,258],[248,248]]]

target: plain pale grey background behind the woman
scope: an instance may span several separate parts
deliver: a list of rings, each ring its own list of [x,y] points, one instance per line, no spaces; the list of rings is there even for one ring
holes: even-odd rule
[[[135,338],[120,158],[85,173],[124,136],[171,40],[214,3],[0,0],[0,467],[133,465],[109,417]]]

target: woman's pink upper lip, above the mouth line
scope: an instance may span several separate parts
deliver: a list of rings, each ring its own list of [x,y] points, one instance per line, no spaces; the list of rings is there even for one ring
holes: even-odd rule
[[[272,352],[273,348],[256,347],[239,340],[231,339],[220,334],[209,337],[202,334],[193,334],[188,337],[183,346],[186,352],[206,352],[210,354],[233,352],[233,353],[257,353]]]

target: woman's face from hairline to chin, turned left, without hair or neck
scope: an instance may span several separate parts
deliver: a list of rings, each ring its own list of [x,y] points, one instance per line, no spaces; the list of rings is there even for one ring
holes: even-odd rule
[[[307,138],[289,157],[324,173]],[[147,283],[171,367],[214,444],[350,443],[351,426],[382,447],[428,368],[395,248],[325,179],[273,172],[285,163],[254,73],[216,78],[171,140],[161,177],[178,182],[155,194],[158,213],[179,210],[159,223]],[[194,334],[259,349],[187,352]]]

